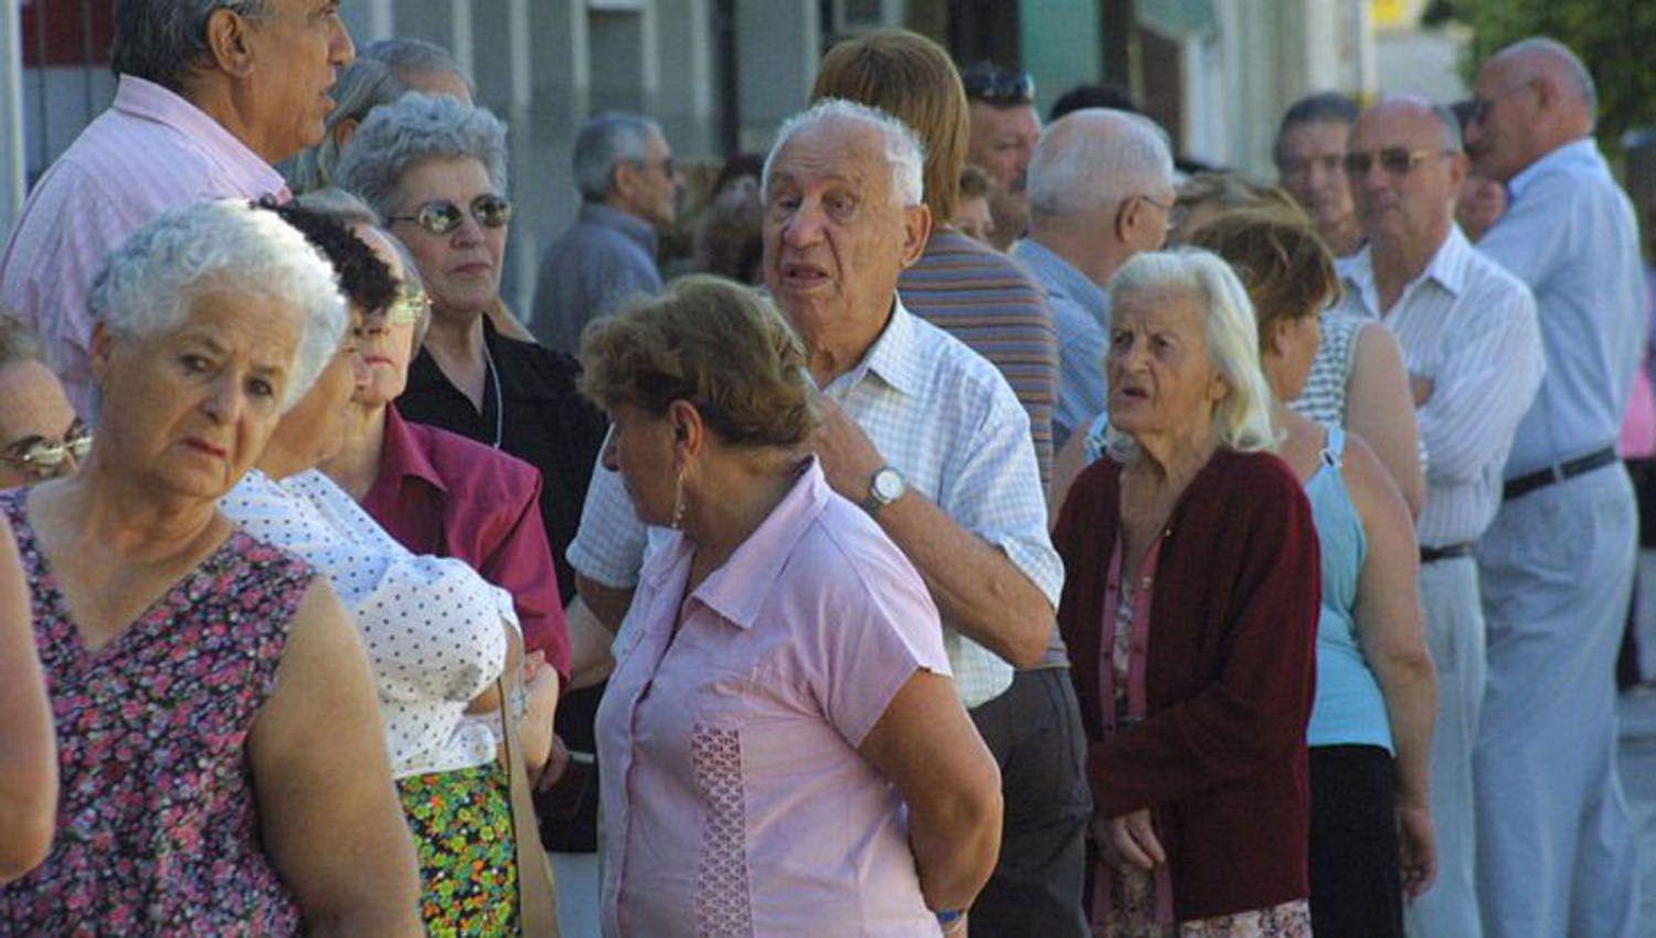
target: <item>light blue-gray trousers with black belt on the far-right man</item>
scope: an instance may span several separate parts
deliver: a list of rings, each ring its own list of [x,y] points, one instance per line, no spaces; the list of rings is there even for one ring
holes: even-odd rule
[[[1638,514],[1621,463],[1502,505],[1479,572],[1489,690],[1474,756],[1490,938],[1633,938],[1615,663]]]

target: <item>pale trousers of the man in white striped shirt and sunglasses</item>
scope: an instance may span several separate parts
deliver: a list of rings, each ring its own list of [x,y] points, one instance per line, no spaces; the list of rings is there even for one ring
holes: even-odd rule
[[[1431,806],[1437,829],[1437,882],[1404,910],[1411,938],[1482,935],[1477,908],[1477,792],[1472,748],[1484,703],[1484,610],[1477,562],[1421,564],[1426,644],[1437,667]]]

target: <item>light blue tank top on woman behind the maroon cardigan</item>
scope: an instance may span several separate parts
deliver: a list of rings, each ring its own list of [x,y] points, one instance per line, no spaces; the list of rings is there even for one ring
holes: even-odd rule
[[[1381,746],[1391,751],[1386,698],[1363,658],[1351,615],[1368,541],[1340,473],[1341,455],[1345,432],[1330,427],[1323,465],[1305,483],[1323,566],[1323,605],[1317,617],[1317,701],[1307,744]]]

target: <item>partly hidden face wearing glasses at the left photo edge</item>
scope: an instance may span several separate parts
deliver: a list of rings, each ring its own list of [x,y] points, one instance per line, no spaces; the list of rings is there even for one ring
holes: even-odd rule
[[[91,447],[28,329],[0,313],[0,488],[73,473]]]

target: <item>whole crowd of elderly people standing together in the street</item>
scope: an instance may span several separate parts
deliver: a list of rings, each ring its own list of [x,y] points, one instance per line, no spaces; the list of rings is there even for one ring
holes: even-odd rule
[[[0,256],[0,933],[1638,931],[1568,48],[1268,185],[859,35],[691,275],[586,121],[525,316],[442,48],[126,0],[114,68]]]

